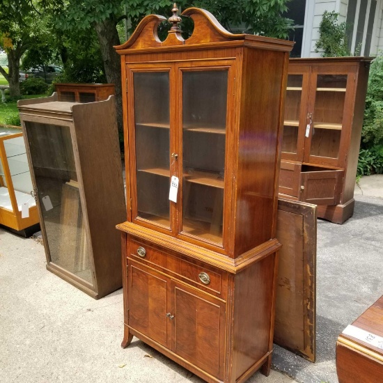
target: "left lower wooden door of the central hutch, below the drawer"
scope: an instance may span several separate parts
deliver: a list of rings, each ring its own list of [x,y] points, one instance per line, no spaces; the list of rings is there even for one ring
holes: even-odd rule
[[[128,260],[128,325],[166,347],[171,347],[168,316],[169,279]]]

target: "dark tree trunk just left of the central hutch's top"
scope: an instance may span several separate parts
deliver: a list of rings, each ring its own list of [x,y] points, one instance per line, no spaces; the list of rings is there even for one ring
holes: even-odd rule
[[[105,75],[107,81],[114,84],[116,89],[116,110],[117,125],[120,137],[123,137],[123,97],[121,91],[121,64],[120,56],[116,54],[114,45],[120,45],[118,38],[116,21],[105,19],[103,22],[95,24],[95,31],[100,42],[102,60],[104,61]]]

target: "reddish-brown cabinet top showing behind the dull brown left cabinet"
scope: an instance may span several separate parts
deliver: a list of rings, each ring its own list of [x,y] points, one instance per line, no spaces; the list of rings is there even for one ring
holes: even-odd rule
[[[114,95],[114,84],[54,84],[59,101],[96,102]]]

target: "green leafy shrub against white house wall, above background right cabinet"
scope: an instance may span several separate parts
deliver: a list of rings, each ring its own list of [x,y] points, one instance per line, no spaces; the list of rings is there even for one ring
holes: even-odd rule
[[[346,23],[338,23],[339,13],[323,13],[319,26],[319,40],[315,43],[315,52],[322,50],[322,57],[351,56],[347,45]]]

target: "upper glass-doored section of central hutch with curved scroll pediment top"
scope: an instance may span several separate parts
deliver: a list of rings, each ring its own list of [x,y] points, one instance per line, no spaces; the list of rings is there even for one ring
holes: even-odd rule
[[[228,33],[198,8],[182,15],[194,22],[186,40],[180,17],[162,41],[165,18],[149,15],[116,47],[127,105],[125,228],[237,258],[275,238],[292,43]],[[172,180],[179,185],[169,201]]]

